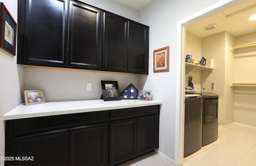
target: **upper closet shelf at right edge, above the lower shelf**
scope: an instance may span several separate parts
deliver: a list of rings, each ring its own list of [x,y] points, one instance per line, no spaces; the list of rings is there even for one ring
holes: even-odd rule
[[[231,47],[230,50],[233,52],[234,57],[256,55],[256,42]]]

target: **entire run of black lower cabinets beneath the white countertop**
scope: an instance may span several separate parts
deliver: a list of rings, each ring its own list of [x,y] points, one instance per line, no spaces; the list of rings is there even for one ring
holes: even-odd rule
[[[117,165],[158,148],[159,105],[6,121],[6,166]]]

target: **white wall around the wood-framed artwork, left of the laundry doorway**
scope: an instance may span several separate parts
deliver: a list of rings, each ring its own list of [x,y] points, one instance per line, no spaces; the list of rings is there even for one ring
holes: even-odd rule
[[[180,63],[180,55],[177,55],[177,38],[180,38],[177,36],[177,22],[218,1],[153,0],[140,11],[140,21],[150,26],[149,75],[147,78],[140,76],[140,83],[145,82],[144,89],[152,90],[154,99],[162,101],[159,150],[172,160],[177,155],[175,127],[178,125],[176,114],[180,112],[180,109],[176,109],[176,100],[179,100],[176,99],[176,93],[182,84],[176,80],[180,77],[180,69],[177,67]],[[170,46],[170,71],[153,73],[153,51],[166,46]]]

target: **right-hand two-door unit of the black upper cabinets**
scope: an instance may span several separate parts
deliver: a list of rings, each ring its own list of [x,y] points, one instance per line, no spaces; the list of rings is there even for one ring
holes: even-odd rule
[[[148,74],[149,27],[104,14],[103,70]]]

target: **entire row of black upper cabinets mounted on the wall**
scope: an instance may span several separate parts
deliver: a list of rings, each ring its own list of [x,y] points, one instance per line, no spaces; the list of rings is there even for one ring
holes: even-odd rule
[[[18,0],[17,63],[148,74],[149,27],[77,0]]]

